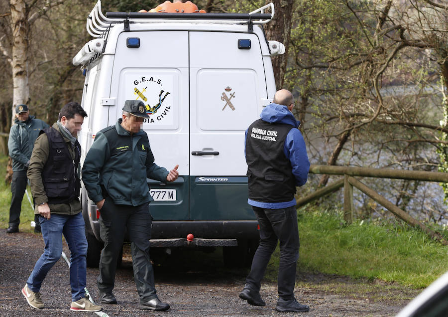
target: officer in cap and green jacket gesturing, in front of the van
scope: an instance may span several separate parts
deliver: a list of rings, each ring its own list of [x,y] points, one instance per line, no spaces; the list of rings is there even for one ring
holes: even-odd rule
[[[147,134],[141,130],[146,114],[144,104],[126,100],[122,117],[114,126],[101,130],[87,153],[82,169],[83,183],[90,199],[100,209],[100,235],[105,242],[97,279],[101,303],[116,304],[112,293],[116,262],[127,228],[131,241],[132,266],[139,308],[166,311],[154,287],[149,259],[152,217],[146,178],[162,182],[178,178],[176,165],[171,171],[154,163]]]

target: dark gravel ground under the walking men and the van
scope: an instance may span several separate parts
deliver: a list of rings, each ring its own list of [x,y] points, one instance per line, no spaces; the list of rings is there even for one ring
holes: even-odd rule
[[[52,268],[41,293],[45,309],[28,306],[20,293],[34,263],[43,251],[42,237],[32,233],[7,235],[0,231],[0,316],[96,316],[71,312],[69,270],[64,260]],[[64,249],[67,256],[67,247]],[[257,308],[238,298],[246,270],[224,268],[214,254],[198,251],[174,252],[163,265],[155,266],[159,298],[171,305],[168,312],[138,310],[138,297],[132,277],[132,263],[125,250],[123,265],[117,270],[114,294],[117,305],[104,305],[109,316],[280,316],[275,311],[277,288],[264,283],[261,296],[266,307]],[[98,269],[88,268],[87,288],[98,299]],[[310,306],[300,316],[395,316],[419,291],[397,285],[351,280],[348,278],[300,273],[296,298]]]

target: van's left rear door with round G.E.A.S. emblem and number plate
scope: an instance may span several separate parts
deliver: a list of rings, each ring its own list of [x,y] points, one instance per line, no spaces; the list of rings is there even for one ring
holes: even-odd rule
[[[128,47],[139,39],[139,47]],[[109,125],[121,117],[124,101],[141,100],[149,119],[143,123],[155,163],[172,169],[179,164],[173,183],[151,181],[151,214],[156,220],[188,220],[189,210],[189,107],[188,31],[122,32],[116,44],[112,71]],[[113,110],[112,110],[113,109]]]

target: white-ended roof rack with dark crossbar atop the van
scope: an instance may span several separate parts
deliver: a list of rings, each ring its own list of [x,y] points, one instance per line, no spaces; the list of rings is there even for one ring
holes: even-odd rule
[[[265,13],[270,8],[271,13]],[[225,23],[265,24],[274,18],[274,4],[271,2],[249,13],[146,13],[146,12],[107,12],[106,16],[101,9],[101,0],[98,0],[86,21],[87,32],[93,37],[102,37],[113,23],[131,22],[160,23],[160,22],[195,22],[195,23]]]

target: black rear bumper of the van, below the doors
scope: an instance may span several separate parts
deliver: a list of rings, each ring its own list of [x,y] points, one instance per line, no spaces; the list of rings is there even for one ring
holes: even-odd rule
[[[256,220],[184,220],[152,222],[153,239],[185,239],[189,233],[204,239],[260,238]]]

